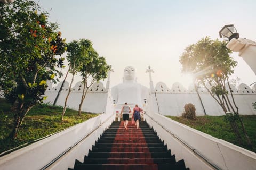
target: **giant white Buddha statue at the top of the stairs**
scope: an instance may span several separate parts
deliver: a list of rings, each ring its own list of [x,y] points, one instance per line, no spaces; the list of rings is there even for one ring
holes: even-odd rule
[[[135,104],[142,107],[144,99],[147,99],[148,88],[136,82],[134,67],[127,66],[124,69],[123,83],[112,87],[111,95],[116,108],[121,108],[125,102],[131,108],[135,107]]]

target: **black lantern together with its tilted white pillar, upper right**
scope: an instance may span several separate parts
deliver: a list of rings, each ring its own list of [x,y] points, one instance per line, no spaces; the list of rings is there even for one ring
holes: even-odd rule
[[[250,39],[239,38],[234,25],[224,25],[219,31],[220,38],[228,39],[227,48],[233,52],[239,52],[244,61],[251,67],[256,74],[256,42]]]

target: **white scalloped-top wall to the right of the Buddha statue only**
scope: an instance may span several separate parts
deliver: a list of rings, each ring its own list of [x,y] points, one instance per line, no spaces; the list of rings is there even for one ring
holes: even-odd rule
[[[256,84],[255,84],[256,85]],[[239,90],[231,86],[233,90],[236,105],[239,108],[241,115],[256,115],[252,103],[256,102],[256,91],[251,89],[246,84],[240,84]],[[153,104],[153,111],[161,115],[181,116],[184,112],[185,104],[192,103],[196,108],[196,115],[203,116],[205,113],[211,116],[224,115],[222,108],[217,101],[205,89],[198,89],[198,97],[194,87],[185,89],[182,84],[174,83],[169,89],[165,83],[159,82],[156,84],[154,94],[151,94]],[[230,101],[231,95],[229,95]],[[205,113],[204,113],[204,109]]]

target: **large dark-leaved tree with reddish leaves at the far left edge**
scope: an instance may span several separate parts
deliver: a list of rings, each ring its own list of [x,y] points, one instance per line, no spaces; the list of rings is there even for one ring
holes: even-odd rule
[[[15,112],[13,139],[28,111],[45,98],[46,81],[61,76],[56,68],[63,58],[55,56],[65,52],[65,41],[48,13],[39,11],[31,0],[0,3],[0,86]]]

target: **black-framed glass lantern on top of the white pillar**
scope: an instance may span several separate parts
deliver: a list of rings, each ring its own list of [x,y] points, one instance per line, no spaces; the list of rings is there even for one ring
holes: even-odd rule
[[[219,31],[220,38],[228,39],[239,38],[239,33],[237,33],[234,25],[224,25],[224,27]]]

